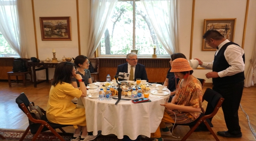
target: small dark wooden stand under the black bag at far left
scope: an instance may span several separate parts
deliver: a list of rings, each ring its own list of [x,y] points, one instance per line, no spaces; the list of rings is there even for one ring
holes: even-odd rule
[[[24,87],[26,87],[26,83],[32,83],[32,73],[31,71],[27,71],[27,72],[7,72],[8,74],[8,83],[9,83],[9,87],[11,87],[11,85],[23,85]],[[30,81],[26,81],[26,74],[30,74]],[[16,76],[16,80],[11,81],[11,76]],[[18,76],[22,76],[22,80],[23,83],[19,83]],[[16,82],[16,83],[13,83]]]

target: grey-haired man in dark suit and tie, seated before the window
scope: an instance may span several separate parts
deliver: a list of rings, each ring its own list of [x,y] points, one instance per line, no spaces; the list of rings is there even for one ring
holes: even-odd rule
[[[144,65],[141,65],[138,63],[138,58],[136,53],[129,53],[126,56],[127,63],[124,63],[122,65],[119,65],[117,67],[117,73],[119,72],[126,72],[130,73],[129,80],[136,81],[136,78],[141,78],[141,80],[147,80],[148,76]],[[123,79],[119,79],[119,81],[122,81]]]

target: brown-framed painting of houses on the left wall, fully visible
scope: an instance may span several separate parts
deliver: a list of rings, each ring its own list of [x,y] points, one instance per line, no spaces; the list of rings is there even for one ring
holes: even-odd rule
[[[42,40],[72,40],[69,17],[39,17]]]

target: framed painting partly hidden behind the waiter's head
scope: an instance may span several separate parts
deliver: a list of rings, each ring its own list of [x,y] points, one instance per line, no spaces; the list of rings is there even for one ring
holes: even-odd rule
[[[204,30],[203,34],[208,30],[217,30],[221,33],[224,38],[234,41],[236,27],[236,18],[226,18],[226,19],[204,19]],[[202,40],[202,51],[216,51],[208,45],[208,43]]]

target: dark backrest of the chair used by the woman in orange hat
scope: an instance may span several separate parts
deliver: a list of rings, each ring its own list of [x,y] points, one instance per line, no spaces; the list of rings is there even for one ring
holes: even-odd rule
[[[219,94],[215,90],[207,88],[204,92],[203,101],[204,100],[210,103],[207,105],[207,108],[208,106],[211,106],[212,109],[214,109],[213,112],[208,115],[209,117],[213,117],[218,112],[219,107],[221,107],[221,104],[223,103],[224,98],[221,96],[221,94]]]

